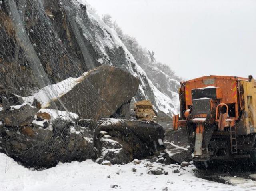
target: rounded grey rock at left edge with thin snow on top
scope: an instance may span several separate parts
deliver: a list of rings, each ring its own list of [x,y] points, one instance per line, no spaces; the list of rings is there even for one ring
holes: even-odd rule
[[[22,105],[10,106],[10,109],[4,110],[0,108],[0,119],[5,126],[26,126],[34,120],[34,115],[38,109],[26,103]]]

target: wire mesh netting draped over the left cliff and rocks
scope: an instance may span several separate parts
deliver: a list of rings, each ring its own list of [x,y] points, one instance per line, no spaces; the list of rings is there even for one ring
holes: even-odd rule
[[[78,115],[97,121],[104,117],[101,111],[115,113],[84,73],[100,64],[86,48],[85,26],[79,27],[78,20],[83,23],[88,16],[78,5],[69,0],[44,6],[41,0],[0,1],[0,148],[23,162],[86,158],[81,150],[89,149],[93,129],[74,121]],[[68,94],[78,84],[79,91]]]

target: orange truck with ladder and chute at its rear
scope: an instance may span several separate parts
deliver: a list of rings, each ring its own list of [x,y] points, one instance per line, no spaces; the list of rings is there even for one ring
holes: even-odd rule
[[[192,160],[199,169],[216,161],[245,159],[256,165],[256,82],[252,76],[204,76],[180,82],[180,116]]]

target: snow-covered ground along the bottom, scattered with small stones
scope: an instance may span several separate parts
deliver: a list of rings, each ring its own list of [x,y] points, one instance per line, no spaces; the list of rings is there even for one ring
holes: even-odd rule
[[[0,191],[245,191],[256,190],[256,182],[241,181],[237,185],[227,185],[197,178],[195,167],[180,167],[160,163],[168,175],[149,175],[146,161],[140,164],[98,165],[91,160],[59,164],[56,167],[35,171],[18,165],[10,157],[0,153]],[[132,172],[136,168],[136,172]],[[179,169],[180,173],[172,171]],[[232,177],[236,179],[236,177]]]

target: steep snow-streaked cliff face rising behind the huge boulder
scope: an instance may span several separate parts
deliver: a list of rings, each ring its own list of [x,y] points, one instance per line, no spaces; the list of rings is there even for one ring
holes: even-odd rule
[[[30,43],[51,83],[78,77],[102,64],[115,66],[140,79],[134,101],[150,99],[156,110],[168,115],[176,112],[174,101],[154,86],[116,32],[89,14],[86,4],[76,0],[19,0],[16,6]],[[22,48],[19,37],[15,35],[18,29],[8,30],[13,24],[12,17],[9,17],[12,7],[3,2],[0,11],[0,20],[4,23],[0,25],[1,34],[4,34],[0,41],[5,45],[0,51],[0,69],[6,74],[0,76],[4,82],[0,93],[26,96],[39,87],[35,82],[38,76],[26,54],[30,50]]]

